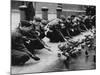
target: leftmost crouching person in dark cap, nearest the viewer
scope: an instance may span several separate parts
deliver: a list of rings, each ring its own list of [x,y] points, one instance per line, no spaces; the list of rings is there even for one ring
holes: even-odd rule
[[[21,21],[18,28],[11,33],[11,64],[24,65],[30,57],[34,60],[40,60],[39,57],[32,54],[25,46],[27,32],[31,30],[31,24],[27,21]]]

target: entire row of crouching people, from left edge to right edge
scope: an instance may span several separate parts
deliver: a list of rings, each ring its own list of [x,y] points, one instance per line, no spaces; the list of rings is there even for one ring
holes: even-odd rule
[[[32,21],[20,21],[19,26],[11,33],[11,64],[24,65],[30,58],[39,61],[34,53],[35,49],[49,46],[42,40],[44,37],[50,42],[66,42],[68,38],[79,35],[81,32],[96,28],[95,15],[71,15],[52,21],[34,17]]]

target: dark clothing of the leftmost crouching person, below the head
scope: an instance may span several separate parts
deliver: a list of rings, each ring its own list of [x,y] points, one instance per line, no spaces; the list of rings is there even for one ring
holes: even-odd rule
[[[21,65],[30,59],[25,52],[26,47],[23,44],[22,35],[17,28],[11,35],[11,63],[12,65]]]

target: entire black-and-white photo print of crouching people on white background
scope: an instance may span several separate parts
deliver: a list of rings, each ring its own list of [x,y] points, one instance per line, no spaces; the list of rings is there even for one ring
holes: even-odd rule
[[[11,74],[96,69],[96,6],[11,0]]]

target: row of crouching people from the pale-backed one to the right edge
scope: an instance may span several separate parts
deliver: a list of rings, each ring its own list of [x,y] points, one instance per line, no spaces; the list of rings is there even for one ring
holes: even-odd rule
[[[71,38],[93,27],[95,28],[95,16],[72,15],[65,18],[62,15],[60,19],[54,19],[48,23],[46,35],[51,42],[63,42],[64,39],[62,37]]]

